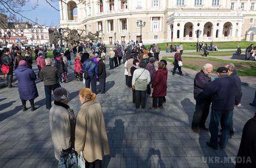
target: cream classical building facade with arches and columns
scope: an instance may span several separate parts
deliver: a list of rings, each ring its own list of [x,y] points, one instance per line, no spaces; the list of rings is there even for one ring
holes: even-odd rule
[[[256,41],[256,0],[63,0],[62,28],[100,31],[100,40],[143,43]]]

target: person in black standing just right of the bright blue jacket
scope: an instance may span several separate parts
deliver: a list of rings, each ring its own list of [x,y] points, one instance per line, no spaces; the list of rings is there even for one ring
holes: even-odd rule
[[[100,82],[100,91],[98,93],[105,93],[106,87],[106,67],[100,56],[97,56],[98,61],[98,79]]]

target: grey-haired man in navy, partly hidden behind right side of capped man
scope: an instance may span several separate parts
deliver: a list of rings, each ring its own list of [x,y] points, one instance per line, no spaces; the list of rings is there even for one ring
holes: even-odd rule
[[[231,79],[233,79],[234,83],[236,83],[237,91],[236,91],[236,104],[238,107],[241,106],[241,99],[242,99],[242,87],[241,87],[241,79],[236,73],[236,67],[234,67],[234,64],[229,63],[225,65],[225,67],[228,69],[228,75],[230,76]],[[223,127],[224,121],[221,121],[221,126]],[[234,129],[233,129],[233,120],[231,121],[230,124],[230,138],[234,135]]]

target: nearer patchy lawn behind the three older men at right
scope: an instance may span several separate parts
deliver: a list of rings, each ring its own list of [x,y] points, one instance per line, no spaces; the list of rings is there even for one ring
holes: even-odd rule
[[[168,56],[164,56],[162,57],[163,59],[167,60],[168,62],[173,62],[173,58],[170,58]],[[188,61],[186,62],[186,59],[195,59],[195,61]],[[199,58],[199,57],[193,57],[193,56],[186,56],[183,57],[183,67],[187,68],[187,69],[193,69],[195,71],[200,71],[201,70],[201,66],[198,65],[198,60],[208,60],[207,62],[211,63],[212,65],[214,65],[214,71],[216,71],[216,69],[218,67],[220,67],[220,65],[226,65],[228,63],[233,63],[236,66],[236,71],[238,73],[238,75],[241,76],[256,76],[256,62],[245,62],[245,61],[235,61],[235,60],[221,60],[218,58]],[[184,63],[186,62],[186,63]]]

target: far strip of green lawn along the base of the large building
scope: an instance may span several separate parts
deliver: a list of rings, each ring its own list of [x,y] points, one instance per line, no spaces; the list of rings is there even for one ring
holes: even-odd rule
[[[179,45],[180,42],[168,42],[169,46],[172,43],[172,46]],[[184,50],[196,50],[197,43],[196,42],[182,42]],[[210,46],[210,42],[207,42],[208,46]],[[235,49],[236,46],[240,45],[242,49],[247,48],[247,46],[254,44],[255,42],[245,42],[245,41],[238,41],[238,42],[214,42],[214,45],[218,46],[218,49]],[[158,46],[161,50],[165,50],[166,43],[159,43]],[[149,48],[150,45],[146,45],[146,48]]]

